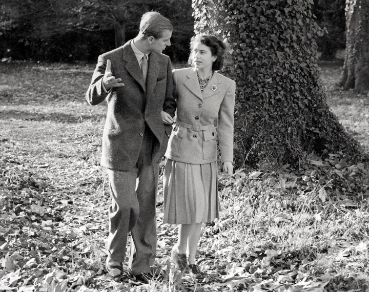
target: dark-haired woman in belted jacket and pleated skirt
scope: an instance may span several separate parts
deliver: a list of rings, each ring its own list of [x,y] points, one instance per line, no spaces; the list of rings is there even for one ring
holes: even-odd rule
[[[179,224],[172,260],[198,277],[202,273],[195,254],[201,223],[217,218],[220,209],[217,137],[223,170],[233,173],[235,82],[216,72],[222,68],[225,48],[215,36],[197,35],[191,40],[194,68],[173,70],[177,119],[165,154],[163,222]],[[163,113],[163,121],[172,120]]]

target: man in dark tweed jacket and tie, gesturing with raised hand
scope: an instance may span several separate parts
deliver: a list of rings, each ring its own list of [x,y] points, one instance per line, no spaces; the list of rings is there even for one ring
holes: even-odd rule
[[[159,161],[168,142],[163,122],[173,123],[176,107],[171,61],[161,54],[171,45],[172,31],[159,13],[142,15],[133,40],[98,57],[86,93],[92,106],[108,103],[101,165],[112,198],[106,268],[113,277],[122,272],[129,232],[129,274],[138,281],[152,276]]]

